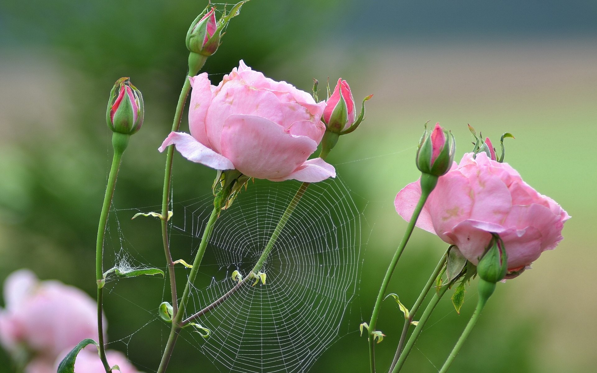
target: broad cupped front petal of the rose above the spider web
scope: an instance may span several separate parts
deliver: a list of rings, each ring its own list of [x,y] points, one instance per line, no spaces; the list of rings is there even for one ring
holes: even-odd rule
[[[316,150],[306,136],[294,136],[263,117],[233,114],[221,133],[222,154],[247,176],[280,179],[290,175]]]

